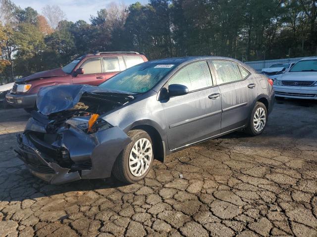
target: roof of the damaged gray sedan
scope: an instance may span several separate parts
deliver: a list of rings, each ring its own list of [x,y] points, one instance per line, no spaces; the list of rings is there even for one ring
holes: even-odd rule
[[[226,57],[218,57],[218,56],[188,56],[188,57],[179,57],[179,58],[163,58],[163,59],[157,59],[146,62],[146,64],[152,64],[152,63],[186,63],[186,62],[194,62],[198,60],[207,60],[207,59],[213,59],[213,60],[231,60],[238,63],[241,63],[240,61],[233,59],[233,58],[226,58]]]

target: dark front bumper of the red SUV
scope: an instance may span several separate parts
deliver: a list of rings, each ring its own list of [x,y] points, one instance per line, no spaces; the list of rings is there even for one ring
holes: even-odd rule
[[[6,94],[5,100],[16,108],[34,108],[37,94]]]

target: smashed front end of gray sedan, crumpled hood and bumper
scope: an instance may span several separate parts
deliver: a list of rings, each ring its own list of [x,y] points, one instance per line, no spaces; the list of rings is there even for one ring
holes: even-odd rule
[[[56,90],[63,103],[46,103],[51,95],[57,103]],[[33,111],[24,133],[17,135],[18,157],[32,174],[51,184],[109,177],[115,159],[131,139],[102,118],[89,131],[89,119],[98,111],[127,103],[131,99],[127,96],[85,85],[43,89],[38,98],[40,113]]]

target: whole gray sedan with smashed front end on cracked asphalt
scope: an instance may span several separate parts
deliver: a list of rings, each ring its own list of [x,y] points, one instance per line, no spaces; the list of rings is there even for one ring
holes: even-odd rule
[[[138,182],[155,158],[237,130],[260,135],[272,83],[234,59],[184,57],[134,66],[98,87],[46,87],[16,152],[52,184],[111,174]]]

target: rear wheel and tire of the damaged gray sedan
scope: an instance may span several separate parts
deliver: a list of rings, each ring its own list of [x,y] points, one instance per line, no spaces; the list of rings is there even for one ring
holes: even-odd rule
[[[250,121],[245,132],[251,136],[263,133],[267,122],[267,110],[263,103],[257,102],[251,112]]]

